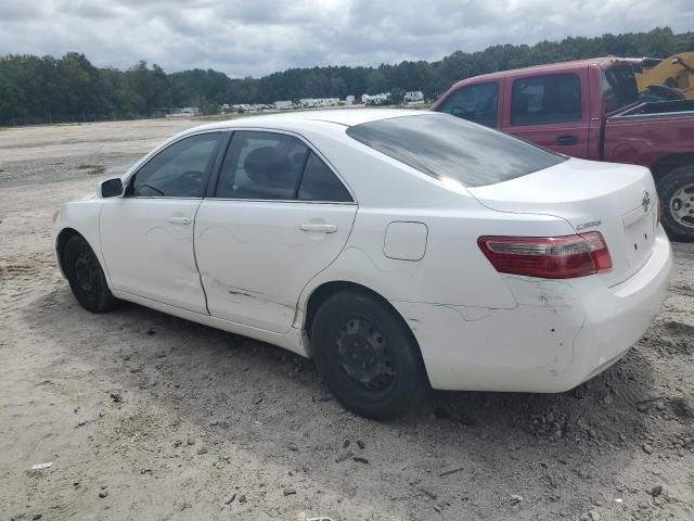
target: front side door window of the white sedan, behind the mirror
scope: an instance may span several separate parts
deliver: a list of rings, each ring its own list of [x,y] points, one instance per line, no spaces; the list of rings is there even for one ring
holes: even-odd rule
[[[152,157],[134,175],[128,195],[202,198],[217,155],[219,132],[181,139]]]

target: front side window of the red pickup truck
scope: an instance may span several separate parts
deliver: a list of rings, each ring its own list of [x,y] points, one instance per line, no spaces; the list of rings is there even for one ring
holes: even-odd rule
[[[487,127],[497,126],[499,86],[496,81],[461,87],[441,104],[445,112]]]

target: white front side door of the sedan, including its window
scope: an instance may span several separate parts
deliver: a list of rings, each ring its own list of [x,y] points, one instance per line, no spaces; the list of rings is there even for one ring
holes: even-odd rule
[[[207,314],[193,229],[220,137],[176,141],[129,179],[125,196],[104,200],[101,247],[114,290]]]

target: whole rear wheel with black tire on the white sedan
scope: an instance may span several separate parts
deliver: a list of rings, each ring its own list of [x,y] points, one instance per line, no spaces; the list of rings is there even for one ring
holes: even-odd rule
[[[310,331],[323,381],[348,409],[371,419],[400,416],[428,390],[420,348],[402,318],[358,291],[325,300]]]

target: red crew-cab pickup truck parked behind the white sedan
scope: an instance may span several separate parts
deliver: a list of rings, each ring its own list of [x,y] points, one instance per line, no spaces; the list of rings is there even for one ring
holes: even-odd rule
[[[643,102],[616,58],[475,76],[433,106],[557,152],[651,168],[663,225],[694,241],[694,100]]]

